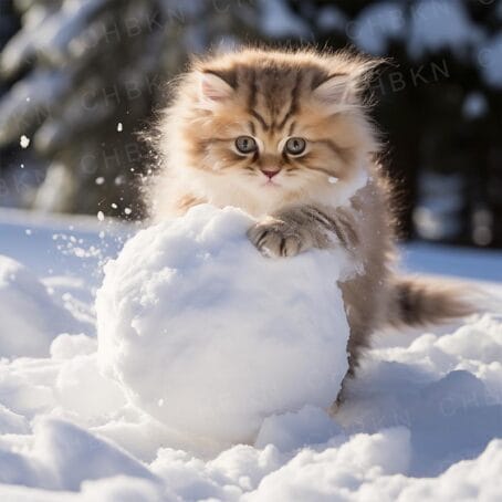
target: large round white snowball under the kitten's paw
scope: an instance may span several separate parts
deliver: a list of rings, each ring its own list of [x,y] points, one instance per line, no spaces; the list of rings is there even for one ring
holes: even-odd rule
[[[347,369],[342,251],[265,259],[253,220],[199,206],[105,268],[98,356],[129,399],[191,437],[250,441],[262,420],[327,407]]]

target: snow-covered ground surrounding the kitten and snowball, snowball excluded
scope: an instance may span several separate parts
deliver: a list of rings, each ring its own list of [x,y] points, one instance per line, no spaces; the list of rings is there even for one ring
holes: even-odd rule
[[[0,254],[24,265],[0,262],[0,500],[501,500],[502,306],[378,334],[334,420],[307,406],[254,445],[194,454],[97,367],[95,290],[129,233],[0,211]],[[501,253],[412,244],[404,268],[502,299]],[[27,346],[6,339],[30,332],[40,345],[13,357]]]

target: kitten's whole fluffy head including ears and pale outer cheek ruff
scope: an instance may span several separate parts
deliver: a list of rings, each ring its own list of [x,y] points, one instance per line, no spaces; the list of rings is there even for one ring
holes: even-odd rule
[[[197,61],[160,128],[168,167],[207,200],[237,198],[250,212],[336,205],[378,148],[360,97],[374,66],[347,53],[249,49]]]

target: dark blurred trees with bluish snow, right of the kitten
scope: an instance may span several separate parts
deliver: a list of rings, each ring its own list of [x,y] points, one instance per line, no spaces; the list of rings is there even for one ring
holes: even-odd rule
[[[373,92],[407,233],[502,245],[502,1],[268,4],[287,20],[264,24],[274,39],[390,59]]]

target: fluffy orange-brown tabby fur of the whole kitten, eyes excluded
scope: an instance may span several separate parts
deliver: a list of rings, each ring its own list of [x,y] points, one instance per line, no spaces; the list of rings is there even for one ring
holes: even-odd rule
[[[449,287],[395,275],[389,187],[360,97],[377,62],[348,53],[244,49],[192,63],[158,127],[156,220],[200,202],[260,218],[251,242],[268,257],[342,245],[355,275],[341,284],[351,374],[378,326],[443,321],[470,308]],[[236,138],[255,138],[242,155]],[[286,137],[305,154],[283,153]],[[265,172],[279,171],[269,179]],[[280,258],[284,259],[284,258]]]

